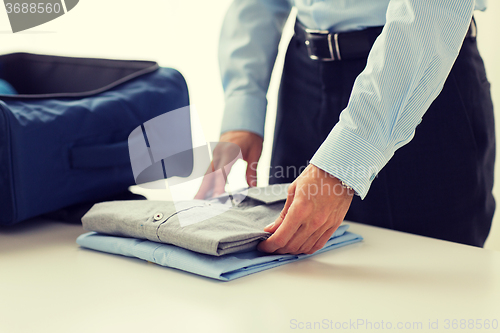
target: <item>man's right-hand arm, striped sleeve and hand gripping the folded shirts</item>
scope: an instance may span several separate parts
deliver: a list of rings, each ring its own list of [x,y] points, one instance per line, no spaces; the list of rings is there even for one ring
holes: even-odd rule
[[[411,140],[458,56],[473,9],[474,0],[390,2],[347,108],[290,187],[280,218],[264,229],[273,235],[261,251],[311,253],[326,243],[350,205],[347,189],[332,191],[344,181],[364,198],[395,150]],[[312,195],[321,179],[331,191]]]

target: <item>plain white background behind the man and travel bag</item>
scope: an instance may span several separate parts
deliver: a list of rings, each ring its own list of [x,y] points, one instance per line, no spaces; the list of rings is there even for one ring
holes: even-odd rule
[[[14,0],[12,1],[14,2]],[[20,1],[21,2],[21,1]],[[25,32],[12,34],[8,17],[0,10],[0,53],[44,54],[156,60],[180,70],[189,85],[191,104],[198,111],[207,141],[217,141],[223,109],[218,75],[217,40],[225,11],[231,0],[81,0],[68,14]],[[477,13],[479,37],[493,102],[500,108],[500,3],[490,1],[489,10]],[[288,37],[290,29],[287,30]],[[282,59],[278,60],[281,63]],[[279,67],[279,66],[278,66]],[[259,166],[259,185],[267,183],[272,128],[279,71],[269,92],[266,140]],[[497,117],[500,119],[500,116]],[[500,120],[497,120],[497,122]],[[500,128],[500,127],[497,127]],[[500,142],[500,141],[499,141]],[[244,165],[231,175],[242,183]],[[500,175],[500,163],[497,163]],[[500,181],[494,192],[500,198]],[[445,195],[445,194],[444,194]],[[500,200],[500,199],[499,199]],[[500,214],[486,243],[500,250]]]

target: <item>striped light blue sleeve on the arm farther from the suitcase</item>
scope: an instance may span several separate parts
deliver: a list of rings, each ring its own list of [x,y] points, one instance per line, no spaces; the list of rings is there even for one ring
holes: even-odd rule
[[[474,0],[391,0],[349,103],[311,163],[364,199],[442,90],[473,10]]]

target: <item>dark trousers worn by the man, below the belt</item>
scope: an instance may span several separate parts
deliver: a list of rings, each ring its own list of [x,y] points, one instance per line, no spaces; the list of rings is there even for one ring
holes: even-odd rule
[[[308,164],[365,65],[366,58],[311,60],[304,43],[292,39],[279,94],[271,184],[292,182]],[[482,247],[495,210],[494,160],[490,85],[475,38],[466,38],[415,137],[396,151],[367,197],[353,199],[346,220]]]

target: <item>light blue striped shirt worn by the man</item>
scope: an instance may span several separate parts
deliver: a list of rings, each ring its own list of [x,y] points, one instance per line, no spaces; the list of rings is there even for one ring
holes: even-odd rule
[[[394,152],[412,139],[443,88],[474,9],[485,10],[486,0],[235,0],[219,44],[222,132],[263,136],[266,93],[292,6],[308,28],[384,25],[347,108],[311,159],[364,198]]]

